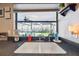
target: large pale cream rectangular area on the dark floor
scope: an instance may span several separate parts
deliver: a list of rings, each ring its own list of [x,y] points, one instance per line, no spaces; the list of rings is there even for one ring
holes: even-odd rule
[[[66,54],[66,51],[54,42],[25,42],[14,53]]]

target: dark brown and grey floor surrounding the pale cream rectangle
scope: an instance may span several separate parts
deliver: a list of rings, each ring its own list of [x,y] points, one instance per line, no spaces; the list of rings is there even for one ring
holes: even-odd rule
[[[43,55],[43,56],[55,56],[55,54],[15,54],[14,51],[20,47],[22,44],[24,43],[24,41],[20,41],[20,42],[13,42],[13,41],[0,41],[0,56],[38,56],[38,55]],[[65,55],[57,55],[57,56],[78,56],[79,55],[79,48],[70,45],[68,43],[61,43],[58,44],[60,47],[62,47],[67,54]]]

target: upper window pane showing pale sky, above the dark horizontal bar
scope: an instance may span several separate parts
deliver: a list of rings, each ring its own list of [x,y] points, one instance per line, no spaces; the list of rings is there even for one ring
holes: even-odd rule
[[[18,21],[56,21],[56,12],[18,12]]]

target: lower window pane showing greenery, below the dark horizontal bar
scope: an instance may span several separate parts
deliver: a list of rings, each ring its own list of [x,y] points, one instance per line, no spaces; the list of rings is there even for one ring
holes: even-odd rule
[[[19,33],[22,32],[23,35],[31,34],[32,36],[48,36],[50,33],[56,33],[56,23],[18,23]]]

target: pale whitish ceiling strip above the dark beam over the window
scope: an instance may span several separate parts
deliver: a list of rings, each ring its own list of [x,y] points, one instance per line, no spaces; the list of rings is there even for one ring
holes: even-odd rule
[[[59,4],[15,4],[14,5],[14,9],[58,9],[59,8]]]

